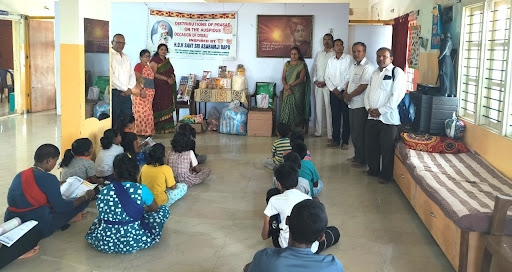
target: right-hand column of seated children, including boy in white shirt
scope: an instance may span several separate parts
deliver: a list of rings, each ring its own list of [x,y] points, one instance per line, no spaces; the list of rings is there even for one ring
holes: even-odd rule
[[[336,244],[340,232],[327,226],[325,209],[317,197],[323,183],[304,136],[292,132],[288,138],[290,129],[282,123],[277,131],[279,139],[272,145],[272,158],[264,163],[274,169],[274,178],[267,192],[261,230],[262,239],[272,238],[277,249],[259,251],[244,271],[343,271],[334,256],[313,256]]]

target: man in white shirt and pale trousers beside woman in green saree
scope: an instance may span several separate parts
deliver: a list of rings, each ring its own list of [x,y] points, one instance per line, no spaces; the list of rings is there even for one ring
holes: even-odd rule
[[[315,83],[315,132],[313,135],[322,136],[323,115],[327,122],[327,138],[332,139],[332,117],[330,104],[330,91],[325,84],[325,68],[330,58],[334,56],[333,47],[334,38],[330,33],[324,35],[324,49],[316,54],[315,64],[313,66],[313,81]]]

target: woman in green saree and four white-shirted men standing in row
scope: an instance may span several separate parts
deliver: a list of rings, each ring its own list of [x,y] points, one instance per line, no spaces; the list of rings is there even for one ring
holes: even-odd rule
[[[352,56],[344,53],[344,43],[331,34],[323,37],[313,67],[316,120],[314,136],[322,136],[323,116],[327,123],[327,146],[348,149],[352,135],[353,167],[368,166],[367,174],[381,183],[393,178],[393,156],[400,116],[398,104],[406,92],[402,69],[392,64],[393,52],[377,50],[378,68],[366,58],[366,45],[352,45]],[[294,130],[309,125],[311,83],[299,47],[290,50],[285,63],[280,121]],[[343,127],[342,127],[343,124]],[[382,158],[382,167],[381,167]]]

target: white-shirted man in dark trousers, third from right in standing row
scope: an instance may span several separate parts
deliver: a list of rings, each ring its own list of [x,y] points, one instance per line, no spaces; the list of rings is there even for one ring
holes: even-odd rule
[[[325,69],[325,84],[330,90],[330,104],[332,113],[332,139],[328,139],[327,146],[340,146],[348,149],[350,126],[348,119],[348,105],[343,100],[343,92],[347,85],[347,74],[352,63],[352,57],[343,53],[345,47],[340,39],[334,40],[335,55],[327,62]],[[341,116],[343,115],[343,133],[340,139]]]

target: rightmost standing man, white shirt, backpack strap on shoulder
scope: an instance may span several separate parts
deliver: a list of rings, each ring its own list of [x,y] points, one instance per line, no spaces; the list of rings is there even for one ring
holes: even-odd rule
[[[381,178],[380,183],[393,179],[395,140],[398,136],[400,115],[398,104],[405,96],[405,73],[395,67],[393,51],[382,47],[377,50],[377,64],[364,97],[368,121],[366,122],[366,160],[368,174]],[[382,169],[380,167],[382,156]]]

